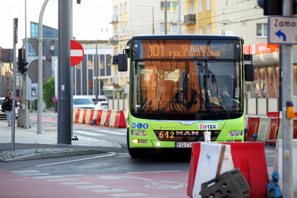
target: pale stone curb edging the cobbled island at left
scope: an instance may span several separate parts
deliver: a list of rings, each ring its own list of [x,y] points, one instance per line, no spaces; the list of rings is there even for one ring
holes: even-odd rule
[[[94,150],[78,150],[78,151],[59,151],[59,152],[49,152],[49,153],[34,153],[30,155],[15,157],[11,159],[4,159],[6,162],[13,161],[25,161],[32,159],[49,159],[49,158],[58,158],[58,157],[70,157],[70,156],[80,156],[80,155],[93,155],[98,153],[105,153],[102,151],[94,151]]]

